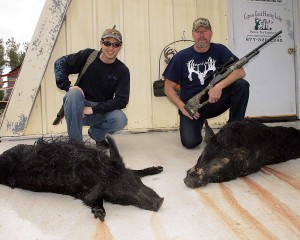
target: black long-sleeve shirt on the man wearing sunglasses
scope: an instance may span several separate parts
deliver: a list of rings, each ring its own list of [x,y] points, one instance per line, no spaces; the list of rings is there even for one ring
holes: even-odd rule
[[[69,91],[70,74],[79,74],[93,49],[84,49],[56,60],[54,72],[58,88]],[[97,58],[90,64],[78,86],[83,90],[86,100],[98,102],[94,113],[106,113],[123,109],[129,101],[130,72],[119,59],[106,64]]]

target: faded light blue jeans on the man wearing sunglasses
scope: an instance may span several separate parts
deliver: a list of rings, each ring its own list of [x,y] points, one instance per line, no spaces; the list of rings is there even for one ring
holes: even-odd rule
[[[83,116],[84,107],[93,107],[98,103],[87,101],[78,89],[70,89],[63,101],[68,135],[75,141],[83,141],[82,126],[90,126],[88,130],[90,135],[94,140],[100,142],[107,133],[113,134],[127,124],[127,117],[122,110]]]

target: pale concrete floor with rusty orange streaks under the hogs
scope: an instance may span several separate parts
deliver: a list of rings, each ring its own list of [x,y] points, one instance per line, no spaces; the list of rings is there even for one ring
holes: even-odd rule
[[[300,129],[300,122],[277,125]],[[101,222],[72,197],[0,185],[0,239],[300,239],[300,159],[230,182],[189,189],[183,178],[204,145],[184,149],[177,131],[114,137],[127,167],[164,167],[161,174],[143,178],[165,198],[158,212],[104,203],[107,216]],[[0,153],[35,140],[2,138]]]

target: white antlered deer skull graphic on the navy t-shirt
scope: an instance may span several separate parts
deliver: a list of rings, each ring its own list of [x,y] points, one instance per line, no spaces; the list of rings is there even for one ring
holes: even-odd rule
[[[193,81],[192,74],[195,73],[198,76],[198,79],[200,80],[201,85],[204,84],[204,78],[205,78],[206,74],[209,71],[216,70],[216,60],[213,60],[211,57],[209,57],[207,62],[205,62],[205,63],[196,64],[194,62],[194,59],[192,59],[192,60],[188,61],[186,65],[187,65],[188,71],[189,71],[189,75],[188,75],[189,80]],[[199,70],[201,65],[204,65],[203,72],[201,72]]]

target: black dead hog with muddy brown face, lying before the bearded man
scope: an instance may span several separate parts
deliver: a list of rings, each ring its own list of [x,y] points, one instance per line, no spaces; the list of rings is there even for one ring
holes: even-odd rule
[[[251,120],[227,123],[207,142],[184,182],[190,188],[225,182],[299,157],[300,130]]]

